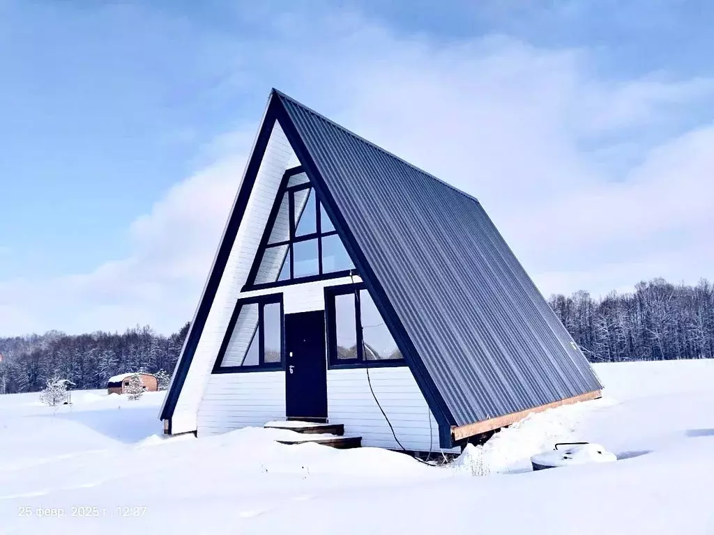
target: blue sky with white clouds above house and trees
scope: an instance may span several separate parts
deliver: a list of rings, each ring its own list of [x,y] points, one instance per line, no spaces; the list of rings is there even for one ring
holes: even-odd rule
[[[0,335],[188,320],[271,86],[476,195],[546,295],[714,277],[714,4],[255,4],[0,0]]]

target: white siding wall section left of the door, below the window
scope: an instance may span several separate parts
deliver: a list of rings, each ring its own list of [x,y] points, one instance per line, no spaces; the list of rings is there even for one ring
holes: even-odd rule
[[[198,408],[198,436],[285,419],[285,372],[214,374]]]

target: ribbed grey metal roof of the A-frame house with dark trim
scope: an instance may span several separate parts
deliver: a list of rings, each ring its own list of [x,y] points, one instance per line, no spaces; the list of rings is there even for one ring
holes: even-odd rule
[[[313,183],[440,428],[601,388],[478,200],[274,89],[258,140],[269,136],[271,121]],[[249,177],[224,242],[231,222],[233,237],[240,225]],[[221,276],[220,261],[221,250],[211,277]],[[209,277],[204,308],[210,287]],[[200,329],[192,325],[188,338]],[[197,343],[186,341],[179,367]],[[171,404],[170,393],[162,418]]]

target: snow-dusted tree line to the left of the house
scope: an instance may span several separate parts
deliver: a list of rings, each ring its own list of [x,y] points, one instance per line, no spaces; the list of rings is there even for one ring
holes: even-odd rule
[[[168,337],[151,327],[126,332],[94,332],[0,338],[0,394],[39,392],[54,377],[68,379],[74,389],[106,387],[112,375],[144,370],[173,372],[188,323]],[[166,382],[166,377],[164,377]]]

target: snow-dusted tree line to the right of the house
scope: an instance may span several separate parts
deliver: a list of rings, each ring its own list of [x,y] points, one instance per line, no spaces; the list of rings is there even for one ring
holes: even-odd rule
[[[663,279],[595,300],[553,295],[550,306],[593,362],[714,357],[714,287]]]

